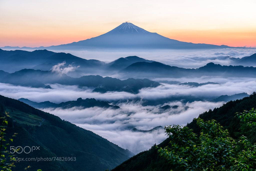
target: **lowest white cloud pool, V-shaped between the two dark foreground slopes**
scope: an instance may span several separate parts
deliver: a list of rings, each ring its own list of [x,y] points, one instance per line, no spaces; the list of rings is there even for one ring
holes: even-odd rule
[[[46,112],[68,120],[82,128],[90,130],[109,141],[118,144],[122,148],[128,148],[137,154],[151,148],[155,143],[159,144],[166,139],[163,129],[150,133],[133,132],[138,130],[151,130],[156,126],[172,124],[186,125],[202,112],[214,109],[223,103],[192,102],[185,110],[183,107],[159,112],[161,106],[142,106],[140,103],[120,103],[121,109],[103,108],[71,108],[71,109],[42,109]],[[168,105],[182,105],[180,102],[168,103]],[[148,110],[147,110],[148,109]]]

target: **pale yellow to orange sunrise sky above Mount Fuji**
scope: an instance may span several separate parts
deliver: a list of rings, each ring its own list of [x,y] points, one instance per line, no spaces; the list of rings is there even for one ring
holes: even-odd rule
[[[0,47],[67,44],[125,21],[180,41],[256,47],[255,6],[255,0],[0,0]]]

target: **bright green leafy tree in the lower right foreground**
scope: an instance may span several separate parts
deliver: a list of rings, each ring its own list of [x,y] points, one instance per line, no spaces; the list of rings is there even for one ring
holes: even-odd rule
[[[256,111],[245,111],[237,115],[248,126],[256,124]],[[170,148],[160,148],[158,152],[169,163],[178,164],[181,170],[247,170],[256,168],[256,145],[245,136],[234,140],[215,120],[204,122],[197,119],[200,135],[188,127],[179,125],[165,127],[170,137]]]

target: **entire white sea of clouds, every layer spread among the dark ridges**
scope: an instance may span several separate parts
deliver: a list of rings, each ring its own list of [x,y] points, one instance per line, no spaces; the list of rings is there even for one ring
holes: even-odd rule
[[[60,51],[56,51],[60,52]],[[221,65],[232,65],[228,57],[242,58],[256,53],[256,49],[216,49],[216,50],[158,50],[158,51],[62,51],[85,59],[98,59],[110,62],[120,57],[138,56],[149,60],[163,62],[167,65],[183,68],[199,68],[209,62]],[[56,65],[53,70],[67,73],[73,71],[72,66],[64,67],[64,64]],[[103,75],[104,76],[104,75]],[[118,78],[118,75],[112,77]],[[220,95],[233,95],[246,92],[251,94],[256,90],[255,78],[230,77],[200,77],[200,78],[154,78],[154,81],[162,85],[156,88],[141,89],[138,94],[127,92],[106,92],[104,94],[92,92],[87,87],[66,86],[50,84],[52,89],[31,88],[13,86],[0,83],[0,94],[9,98],[27,98],[35,102],[50,101],[61,103],[77,100],[77,98],[95,98],[96,100],[109,101],[120,106],[120,109],[74,107],[70,109],[42,109],[55,114],[61,119],[70,121],[84,129],[108,139],[109,141],[128,148],[133,153],[138,153],[151,148],[155,143],[161,143],[166,135],[163,129],[152,132],[134,132],[131,129],[151,130],[156,126],[172,124],[186,125],[199,114],[220,107],[224,102],[213,103],[209,101],[194,101],[182,103],[171,101],[161,105],[145,106],[142,101],[133,99],[156,100],[178,96],[190,95],[192,97],[213,99]],[[219,84],[207,84],[199,87],[172,84],[177,82],[217,82]],[[177,109],[159,111],[163,105],[178,105]],[[187,110],[183,106],[189,106]],[[147,110],[148,109],[148,110]]]

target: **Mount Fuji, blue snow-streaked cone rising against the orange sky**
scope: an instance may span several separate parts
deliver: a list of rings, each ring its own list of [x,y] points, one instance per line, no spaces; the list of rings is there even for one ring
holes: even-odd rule
[[[4,47],[8,48],[8,47]],[[27,47],[23,47],[27,48]],[[39,47],[33,49],[47,50],[87,50],[87,49],[222,49],[233,48],[225,45],[194,44],[182,42],[157,33],[151,33],[132,23],[122,23],[113,30],[70,44]],[[239,47],[241,48],[241,47]]]

